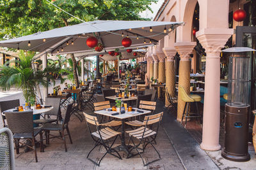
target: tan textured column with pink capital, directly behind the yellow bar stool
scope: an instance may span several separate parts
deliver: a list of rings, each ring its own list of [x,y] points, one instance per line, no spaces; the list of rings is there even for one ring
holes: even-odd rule
[[[174,47],[180,55],[179,64],[179,86],[184,87],[189,94],[190,87],[190,67],[189,54],[193,52],[196,42],[181,42],[175,43]],[[181,122],[185,102],[182,101],[180,93],[178,93],[177,120]]]

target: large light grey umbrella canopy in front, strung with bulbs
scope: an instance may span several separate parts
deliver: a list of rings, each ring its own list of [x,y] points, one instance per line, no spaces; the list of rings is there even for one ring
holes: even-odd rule
[[[95,20],[0,41],[0,46],[41,53],[92,52],[93,49],[86,45],[86,39],[95,36],[104,46],[104,50],[109,50],[124,47],[121,42],[127,35],[132,40],[131,46],[145,45],[144,41],[146,44],[150,41],[156,43],[166,36],[168,31],[182,24],[184,22]],[[164,28],[167,29],[166,33]]]

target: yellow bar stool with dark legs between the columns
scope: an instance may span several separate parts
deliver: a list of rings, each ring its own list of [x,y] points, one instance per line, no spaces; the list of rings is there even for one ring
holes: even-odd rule
[[[197,118],[199,117],[200,118],[200,124],[202,125],[202,118],[201,118],[201,115],[198,111],[198,106],[197,106],[197,102],[201,101],[201,96],[196,95],[196,94],[188,95],[186,93],[184,87],[182,87],[182,86],[179,86],[179,93],[180,93],[180,97],[181,97],[182,101],[186,102],[180,124],[182,124],[182,120],[185,117],[186,119],[185,119],[185,126],[184,127],[186,128],[188,118],[195,117],[196,122],[197,122]],[[195,103],[196,113],[189,113],[188,114],[189,103]],[[186,113],[185,113],[185,111],[186,111]]]

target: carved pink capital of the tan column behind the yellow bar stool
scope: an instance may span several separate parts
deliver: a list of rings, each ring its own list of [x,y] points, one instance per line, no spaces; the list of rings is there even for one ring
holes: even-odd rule
[[[193,52],[196,42],[178,42],[174,44],[175,49],[180,55],[181,61],[188,61],[189,54]]]

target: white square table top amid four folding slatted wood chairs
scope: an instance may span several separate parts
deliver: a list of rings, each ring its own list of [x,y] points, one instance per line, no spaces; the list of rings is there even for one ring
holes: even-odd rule
[[[133,109],[136,109],[136,108],[133,108]],[[141,110],[141,109],[139,109],[139,110]],[[99,114],[99,115],[104,115],[107,117],[119,118],[119,119],[131,118],[131,117],[136,117],[138,115],[145,115],[145,114],[151,113],[151,111],[148,111],[148,110],[141,110],[141,111],[144,111],[144,112],[138,113],[135,111],[125,111],[124,114],[111,115],[112,113],[116,113],[116,111],[99,110],[99,111],[94,111],[94,113]]]

